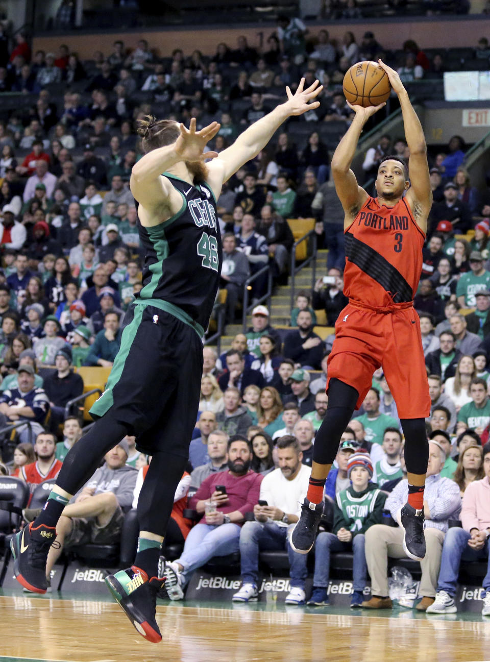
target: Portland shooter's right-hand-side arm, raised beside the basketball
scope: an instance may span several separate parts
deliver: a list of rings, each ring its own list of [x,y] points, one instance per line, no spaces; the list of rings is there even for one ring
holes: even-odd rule
[[[397,71],[391,69],[381,60],[378,60],[378,62],[379,66],[386,71],[391,87],[398,95],[403,115],[403,125],[405,126],[405,138],[410,150],[409,177],[411,187],[405,198],[412,209],[417,225],[426,232],[427,216],[432,205],[432,190],[430,189],[424,131]]]

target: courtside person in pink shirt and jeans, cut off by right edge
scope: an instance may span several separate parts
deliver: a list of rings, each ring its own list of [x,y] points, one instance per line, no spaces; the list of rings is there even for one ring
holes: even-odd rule
[[[483,446],[485,478],[473,481],[463,496],[461,522],[463,528],[450,528],[444,539],[435,602],[426,614],[454,614],[456,585],[461,561],[489,559],[490,541],[490,443]],[[490,565],[483,579],[482,616],[490,616]]]

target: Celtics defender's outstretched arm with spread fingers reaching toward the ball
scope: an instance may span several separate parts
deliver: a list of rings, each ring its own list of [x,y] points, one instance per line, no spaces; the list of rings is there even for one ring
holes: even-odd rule
[[[221,187],[223,181],[230,179],[240,167],[255,158],[288,117],[303,115],[306,111],[319,107],[320,102],[315,99],[323,86],[319,85],[319,81],[316,80],[307,89],[304,87],[304,78],[301,79],[295,94],[289,87],[286,87],[287,101],[285,103],[279,104],[273,111],[254,122],[236,138],[230,147],[220,152],[218,158],[209,164],[210,181],[213,185],[215,185],[214,178],[221,178],[221,181],[218,182]]]

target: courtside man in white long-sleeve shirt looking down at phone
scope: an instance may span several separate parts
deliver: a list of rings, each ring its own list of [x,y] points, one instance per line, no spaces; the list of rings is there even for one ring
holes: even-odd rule
[[[303,453],[292,435],[277,441],[279,467],[260,485],[260,500],[254,506],[255,522],[245,522],[240,532],[242,587],[233,602],[258,599],[258,556],[260,549],[286,549],[289,557],[291,591],[286,604],[305,604],[307,555],[293,551],[288,533],[299,519],[299,504],[308,489],[309,467],[301,463]]]

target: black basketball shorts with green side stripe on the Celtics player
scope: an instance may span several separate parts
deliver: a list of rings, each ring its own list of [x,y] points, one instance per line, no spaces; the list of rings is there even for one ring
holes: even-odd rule
[[[202,373],[203,344],[189,324],[152,305],[132,304],[107,387],[90,414],[97,419],[110,412],[144,453],[187,458]]]

